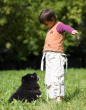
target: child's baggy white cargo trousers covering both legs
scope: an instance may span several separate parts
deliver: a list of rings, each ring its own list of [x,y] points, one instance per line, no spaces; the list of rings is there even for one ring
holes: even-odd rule
[[[64,96],[64,58],[60,53],[48,52],[46,55],[45,84],[49,98]]]

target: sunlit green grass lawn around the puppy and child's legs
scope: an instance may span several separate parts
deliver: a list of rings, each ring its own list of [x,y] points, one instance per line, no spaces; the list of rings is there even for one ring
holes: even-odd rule
[[[21,77],[37,72],[42,97],[32,103],[8,99],[21,84]],[[65,97],[62,103],[46,100],[45,73],[40,70],[0,71],[0,110],[86,110],[86,69],[68,69],[65,75]]]

